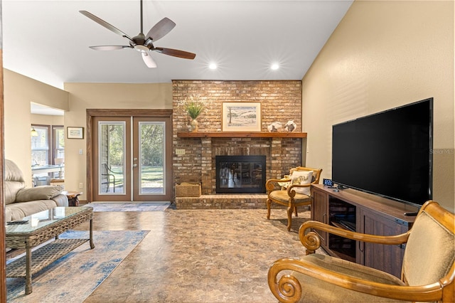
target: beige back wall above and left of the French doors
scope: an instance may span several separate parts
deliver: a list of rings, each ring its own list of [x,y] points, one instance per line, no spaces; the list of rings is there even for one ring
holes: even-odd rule
[[[172,109],[172,84],[124,83],[65,83],[70,93],[70,110],[65,112],[65,127],[87,129],[87,109]],[[65,140],[65,188],[79,190],[81,200],[87,195],[87,142],[84,139]],[[79,154],[82,149],[82,154]]]

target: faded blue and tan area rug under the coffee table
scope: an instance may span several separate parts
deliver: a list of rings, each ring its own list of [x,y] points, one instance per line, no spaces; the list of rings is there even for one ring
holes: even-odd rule
[[[95,248],[91,250],[88,242],[84,243],[33,275],[31,294],[25,294],[25,279],[6,279],[7,301],[83,302],[147,233],[149,230],[95,230]],[[68,230],[60,238],[89,238],[89,234],[84,230]]]

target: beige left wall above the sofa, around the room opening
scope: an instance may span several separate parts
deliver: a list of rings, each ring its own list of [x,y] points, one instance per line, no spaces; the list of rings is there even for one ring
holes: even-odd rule
[[[16,162],[27,186],[31,186],[31,177],[26,177],[31,176],[30,102],[68,110],[68,95],[68,92],[4,69],[5,158]]]

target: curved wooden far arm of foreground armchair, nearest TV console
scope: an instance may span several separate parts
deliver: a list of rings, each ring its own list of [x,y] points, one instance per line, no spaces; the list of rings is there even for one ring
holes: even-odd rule
[[[306,248],[306,255],[314,253],[316,249],[321,245],[321,240],[319,236],[314,232],[306,233],[306,230],[309,228],[314,228],[317,230],[325,231],[327,233],[332,233],[333,235],[339,235],[344,238],[358,240],[368,243],[377,243],[377,244],[387,244],[387,245],[398,245],[407,242],[410,232],[402,233],[400,235],[369,235],[365,233],[356,233],[354,231],[346,230],[343,228],[337,228],[325,223],[318,221],[306,221],[299,228],[299,238],[300,242]]]

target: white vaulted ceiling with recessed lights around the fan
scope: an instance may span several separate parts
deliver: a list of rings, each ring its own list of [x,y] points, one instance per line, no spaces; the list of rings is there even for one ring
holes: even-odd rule
[[[3,0],[4,68],[43,83],[170,83],[171,80],[301,80],[346,14],[344,1],[149,1],[144,33],[168,17],[177,25],[155,46],[196,53],[186,60],[152,52],[146,68],[132,49],[78,11],[129,36],[140,31],[139,0]],[[217,70],[208,65],[216,63]],[[271,70],[278,63],[278,70]]]

